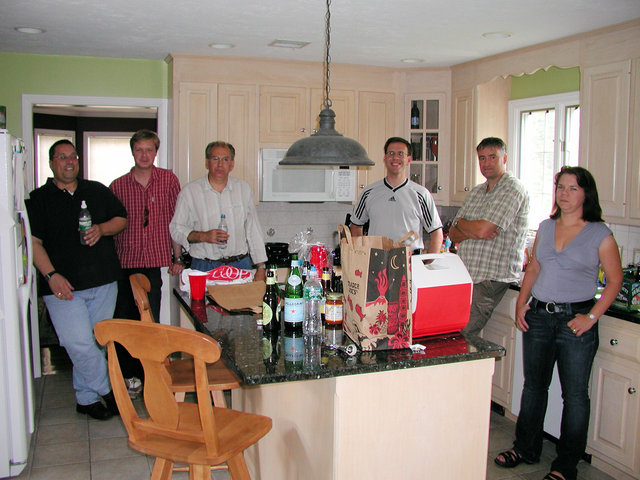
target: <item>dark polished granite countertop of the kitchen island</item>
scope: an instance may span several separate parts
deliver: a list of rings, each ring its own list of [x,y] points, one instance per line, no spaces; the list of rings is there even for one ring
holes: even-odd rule
[[[227,364],[245,385],[330,378],[505,355],[505,349],[500,345],[477,336],[454,333],[414,339],[414,344],[426,347],[419,353],[410,349],[358,350],[354,356],[349,356],[341,350],[328,348],[317,338],[288,334],[284,330],[268,335],[256,325],[256,315],[230,313],[214,305],[209,298],[192,301],[179,289],[174,289],[174,295],[196,330],[211,335],[220,343]],[[346,335],[344,343],[349,343]]]

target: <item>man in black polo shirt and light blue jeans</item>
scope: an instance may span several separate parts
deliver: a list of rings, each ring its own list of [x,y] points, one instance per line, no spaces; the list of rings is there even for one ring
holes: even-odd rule
[[[39,291],[73,362],[76,411],[106,420],[118,409],[93,327],[113,316],[120,273],[113,235],[127,226],[127,211],[101,183],[78,179],[78,155],[68,140],[52,145],[49,166],[53,178],[27,200],[33,263],[43,276]],[[83,201],[93,221],[84,234],[86,245],[78,230]]]

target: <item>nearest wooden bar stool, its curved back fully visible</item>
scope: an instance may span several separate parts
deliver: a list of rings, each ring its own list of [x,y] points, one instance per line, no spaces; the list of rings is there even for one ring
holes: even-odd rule
[[[103,320],[94,332],[107,346],[109,378],[129,446],[156,457],[153,480],[170,480],[174,462],[188,464],[191,480],[210,480],[211,467],[225,462],[234,480],[250,478],[244,450],[265,436],[272,422],[262,415],[212,406],[206,364],[219,362],[218,342],[192,330],[132,320]],[[141,418],[129,398],[114,342],[142,362],[149,418]],[[175,352],[193,357],[197,404],[178,402],[173,394],[164,362]]]

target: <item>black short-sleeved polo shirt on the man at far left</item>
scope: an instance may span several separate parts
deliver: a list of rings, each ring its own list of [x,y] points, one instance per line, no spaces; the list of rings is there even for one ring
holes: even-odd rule
[[[80,243],[78,216],[82,200],[86,201],[93,224],[114,217],[127,217],[118,198],[100,182],[78,179],[75,192],[60,190],[53,179],[37,188],[25,202],[31,233],[42,244],[53,268],[64,275],[75,290],[106,285],[118,279],[120,262],[113,236],[104,236],[89,247]],[[49,273],[49,272],[43,272]],[[48,282],[40,281],[40,294],[50,295]]]

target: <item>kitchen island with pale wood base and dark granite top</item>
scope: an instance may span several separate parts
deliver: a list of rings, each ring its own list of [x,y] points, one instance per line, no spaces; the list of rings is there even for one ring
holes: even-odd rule
[[[349,357],[284,332],[266,337],[254,315],[174,294],[182,317],[218,340],[242,379],[233,408],[273,419],[245,453],[253,479],[485,478],[503,347],[452,334],[414,339],[420,353]]]

